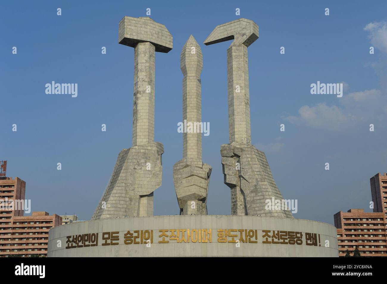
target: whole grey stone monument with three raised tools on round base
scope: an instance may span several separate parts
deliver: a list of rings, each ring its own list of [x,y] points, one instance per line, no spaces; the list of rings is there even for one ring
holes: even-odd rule
[[[229,144],[221,146],[232,215],[207,215],[212,168],[202,162],[200,131],[183,133],[183,159],[173,167],[180,215],[152,216],[161,185],[163,145],[154,142],[155,52],[172,49],[165,26],[148,17],[124,17],[118,43],[134,48],[133,145],[124,149],[90,221],[49,231],[48,257],[338,257],[336,228],[295,219],[288,208],[265,208],[283,199],[265,154],[251,144],[247,48],[258,38],[252,20],[217,26],[204,44],[233,39],[227,50]],[[201,129],[203,57],[190,36],[183,46],[183,120]]]

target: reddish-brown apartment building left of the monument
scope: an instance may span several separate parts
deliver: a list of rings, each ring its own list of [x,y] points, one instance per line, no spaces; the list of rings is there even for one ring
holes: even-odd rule
[[[0,257],[21,255],[47,256],[48,231],[62,224],[57,214],[49,216],[47,212],[33,212],[32,216],[23,216],[24,210],[5,208],[8,202],[24,200],[26,182],[16,177],[0,177]],[[16,208],[15,208],[16,209]]]

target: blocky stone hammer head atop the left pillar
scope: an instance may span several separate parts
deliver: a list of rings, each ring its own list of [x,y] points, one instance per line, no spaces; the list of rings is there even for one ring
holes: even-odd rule
[[[149,42],[157,52],[168,53],[173,48],[173,37],[167,28],[150,17],[123,17],[118,25],[118,43],[135,48]]]

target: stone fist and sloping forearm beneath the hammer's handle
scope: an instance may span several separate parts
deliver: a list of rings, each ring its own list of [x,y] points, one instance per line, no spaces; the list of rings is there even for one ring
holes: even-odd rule
[[[153,192],[161,186],[163,153],[158,142],[122,150],[93,219],[152,216]]]

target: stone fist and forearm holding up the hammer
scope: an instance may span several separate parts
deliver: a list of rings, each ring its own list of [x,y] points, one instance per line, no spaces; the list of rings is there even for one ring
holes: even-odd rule
[[[123,17],[118,43],[134,48],[132,148],[123,149],[93,219],[153,215],[161,186],[163,144],[154,142],[155,53],[168,53],[173,37],[149,17]]]

